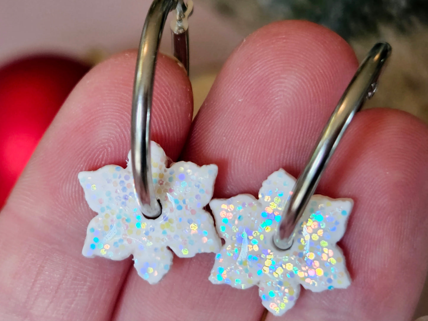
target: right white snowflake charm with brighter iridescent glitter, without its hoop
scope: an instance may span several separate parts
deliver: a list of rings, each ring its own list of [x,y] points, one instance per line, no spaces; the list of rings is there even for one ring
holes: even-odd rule
[[[273,246],[274,230],[294,182],[280,169],[263,182],[259,199],[242,194],[210,202],[217,232],[226,240],[215,257],[211,282],[235,288],[258,285],[263,305],[275,315],[294,305],[300,284],[317,292],[351,283],[336,246],[346,229],[351,199],[312,196],[291,248],[280,251]]]

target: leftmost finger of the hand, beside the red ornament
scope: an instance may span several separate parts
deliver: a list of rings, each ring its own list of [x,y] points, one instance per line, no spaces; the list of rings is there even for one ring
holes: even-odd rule
[[[123,165],[129,151],[136,54],[96,66],[71,93],[0,214],[1,319],[108,319],[131,260],[81,254],[95,213],[77,174]],[[187,74],[160,56],[152,140],[175,159],[187,137],[193,100]]]

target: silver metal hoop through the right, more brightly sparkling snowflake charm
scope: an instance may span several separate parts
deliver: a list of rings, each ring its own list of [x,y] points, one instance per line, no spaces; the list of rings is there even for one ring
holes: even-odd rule
[[[314,194],[327,163],[355,113],[375,93],[377,79],[390,53],[391,46],[388,43],[374,45],[342,95],[282,211],[273,237],[273,243],[280,250],[288,250],[293,244],[296,225]]]

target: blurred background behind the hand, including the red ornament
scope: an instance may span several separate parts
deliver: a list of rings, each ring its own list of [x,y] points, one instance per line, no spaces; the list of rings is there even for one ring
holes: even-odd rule
[[[149,0],[1,0],[0,208],[43,132],[75,83],[113,53],[136,48]],[[305,19],[347,40],[362,59],[393,48],[379,92],[366,104],[428,122],[428,1],[194,0],[190,80],[195,113],[229,53],[271,21]],[[161,51],[170,52],[169,30]],[[425,287],[427,288],[427,287]],[[427,293],[428,291],[425,291]],[[425,294],[425,297],[426,294]],[[415,317],[428,314],[421,299]]]

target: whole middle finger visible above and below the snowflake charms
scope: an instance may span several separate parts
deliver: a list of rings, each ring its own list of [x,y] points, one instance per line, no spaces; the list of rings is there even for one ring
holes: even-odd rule
[[[193,123],[185,160],[218,165],[215,197],[256,195],[282,166],[295,175],[356,68],[348,44],[323,27],[287,21],[258,30],[217,77]],[[212,253],[175,258],[157,285],[132,271],[115,317],[260,319],[257,287],[212,285],[213,262]]]

